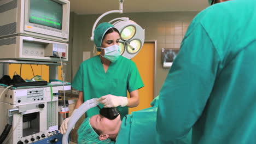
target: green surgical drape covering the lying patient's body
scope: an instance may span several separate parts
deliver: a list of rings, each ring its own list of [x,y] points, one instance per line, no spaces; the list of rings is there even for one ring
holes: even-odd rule
[[[153,107],[132,112],[123,118],[115,144],[155,144],[156,136],[156,112],[158,110],[158,97],[151,103]],[[174,141],[175,144],[187,144],[191,141],[191,133],[183,139]]]

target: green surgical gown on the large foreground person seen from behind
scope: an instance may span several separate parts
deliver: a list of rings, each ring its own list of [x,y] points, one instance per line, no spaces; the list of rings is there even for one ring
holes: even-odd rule
[[[191,22],[159,94],[159,143],[256,143],[256,2],[233,0]]]

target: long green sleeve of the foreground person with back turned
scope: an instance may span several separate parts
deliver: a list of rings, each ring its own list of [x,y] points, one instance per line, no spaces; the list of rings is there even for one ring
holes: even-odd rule
[[[187,135],[212,91],[219,56],[201,23],[194,24],[183,39],[159,94],[159,143],[173,143]]]

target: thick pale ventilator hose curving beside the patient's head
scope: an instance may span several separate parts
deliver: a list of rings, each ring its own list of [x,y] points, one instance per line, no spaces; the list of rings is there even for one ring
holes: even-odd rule
[[[82,105],[78,107],[78,109],[71,115],[68,121],[68,128],[66,133],[62,137],[62,144],[68,144],[68,135],[72,128],[74,127],[75,123],[77,123],[78,119],[84,115],[86,111],[98,105],[96,101],[97,98],[90,99],[85,101]]]

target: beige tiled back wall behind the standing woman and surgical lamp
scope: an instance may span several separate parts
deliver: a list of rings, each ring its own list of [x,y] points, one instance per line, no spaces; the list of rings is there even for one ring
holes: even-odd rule
[[[162,12],[162,13],[129,13],[110,14],[100,22],[110,21],[117,17],[129,17],[145,29],[145,40],[155,41],[156,45],[156,81],[155,95],[158,95],[168,73],[168,68],[162,67],[162,48],[179,48],[187,28],[193,17],[199,11]],[[92,26],[100,15],[75,15],[73,33],[73,66],[77,71],[83,61],[83,51],[92,51],[94,46],[90,41]],[[75,72],[73,72],[74,76]]]

